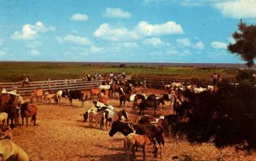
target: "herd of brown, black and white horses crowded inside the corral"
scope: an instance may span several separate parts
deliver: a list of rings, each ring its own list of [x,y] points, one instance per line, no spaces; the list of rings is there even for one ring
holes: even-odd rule
[[[160,147],[160,157],[162,156],[162,148],[165,145],[165,135],[171,138],[172,127],[177,124],[177,120],[183,119],[188,114],[186,108],[181,106],[186,105],[189,100],[183,95],[185,90],[190,92],[199,92],[197,90],[201,87],[190,85],[183,87],[182,84],[172,83],[166,93],[163,95],[148,95],[146,85],[143,83],[136,83],[132,80],[126,82],[103,82],[98,88],[90,89],[90,101],[92,106],[89,110],[83,113],[84,123],[89,120],[90,127],[100,124],[102,129],[105,125],[106,129],[110,127],[109,135],[113,136],[117,132],[125,135],[124,147],[127,158],[130,158],[130,151],[132,151],[132,158],[135,158],[135,148],[143,147],[143,160],[146,159],[146,152],[148,144],[154,145],[154,157],[157,157],[158,148]],[[146,89],[146,90],[145,90]],[[214,88],[213,88],[214,89]],[[213,90],[202,89],[205,90]],[[116,94],[119,95],[116,95]],[[17,94],[17,91],[6,91],[2,89],[0,95],[0,124],[9,124],[12,128],[19,124],[19,116],[22,118],[22,125],[24,118],[26,118],[26,125],[28,118],[32,118],[33,125],[37,125],[38,107],[36,102],[61,104],[61,98],[68,98],[71,106],[73,106],[73,99],[79,100],[81,106],[84,106],[84,101],[88,101],[88,91],[63,89],[58,91],[44,91],[43,89],[34,89],[30,96],[30,102],[24,102],[22,97]],[[108,104],[108,99],[118,97],[119,107],[121,110]],[[132,110],[139,108],[139,115],[143,115],[137,120],[137,123],[129,123],[128,112],[125,107],[125,102],[133,102]],[[173,109],[174,114],[156,118],[156,111],[160,108],[166,108],[165,102],[170,102],[170,108]],[[161,106],[160,106],[161,105]],[[144,111],[148,109],[154,110],[154,116],[144,115]],[[148,112],[149,113],[149,112]],[[152,114],[153,115],[153,114]]]

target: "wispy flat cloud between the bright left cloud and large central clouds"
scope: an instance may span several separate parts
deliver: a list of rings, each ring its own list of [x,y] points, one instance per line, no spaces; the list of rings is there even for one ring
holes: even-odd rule
[[[65,37],[56,37],[56,40],[59,43],[76,43],[79,45],[89,45],[91,44],[90,40],[87,37],[79,37],[71,34],[67,34]]]

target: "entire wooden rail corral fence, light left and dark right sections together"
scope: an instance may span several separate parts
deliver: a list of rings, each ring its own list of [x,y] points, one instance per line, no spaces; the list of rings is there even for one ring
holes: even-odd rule
[[[138,77],[138,76],[127,76],[125,80],[133,80],[137,82],[143,82],[146,80],[147,86],[150,89],[164,89],[165,84],[170,84],[173,82],[182,83],[183,85],[189,85],[191,79],[177,79],[177,78],[154,78],[154,77]],[[44,91],[49,90],[59,90],[59,89],[79,89],[86,90],[90,88],[96,88],[102,83],[102,79],[91,81],[90,83],[84,83],[82,79],[66,79],[66,80],[51,80],[51,81],[37,81],[30,82],[29,85],[22,87],[22,83],[13,82],[13,83],[0,83],[0,89],[5,88],[7,91],[17,90],[18,94],[25,96],[31,95],[33,89],[42,88]],[[212,84],[212,81],[204,81],[205,84]],[[231,83],[234,86],[238,83]],[[253,84],[253,87],[256,88],[256,85]]]

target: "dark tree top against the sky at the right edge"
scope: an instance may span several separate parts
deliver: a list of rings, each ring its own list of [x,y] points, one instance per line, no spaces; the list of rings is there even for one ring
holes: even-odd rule
[[[252,67],[256,58],[256,26],[247,26],[241,20],[238,30],[232,34],[236,43],[230,43],[228,50],[231,54],[240,55],[241,60],[247,61],[246,65]]]

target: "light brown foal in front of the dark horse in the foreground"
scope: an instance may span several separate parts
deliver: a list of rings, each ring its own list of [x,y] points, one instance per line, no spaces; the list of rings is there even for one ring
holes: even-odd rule
[[[124,148],[126,153],[126,160],[130,161],[130,152],[132,151],[132,160],[136,159],[135,147],[143,147],[143,161],[146,160],[147,147],[150,143],[150,140],[147,135],[137,135],[131,133],[125,136]]]

